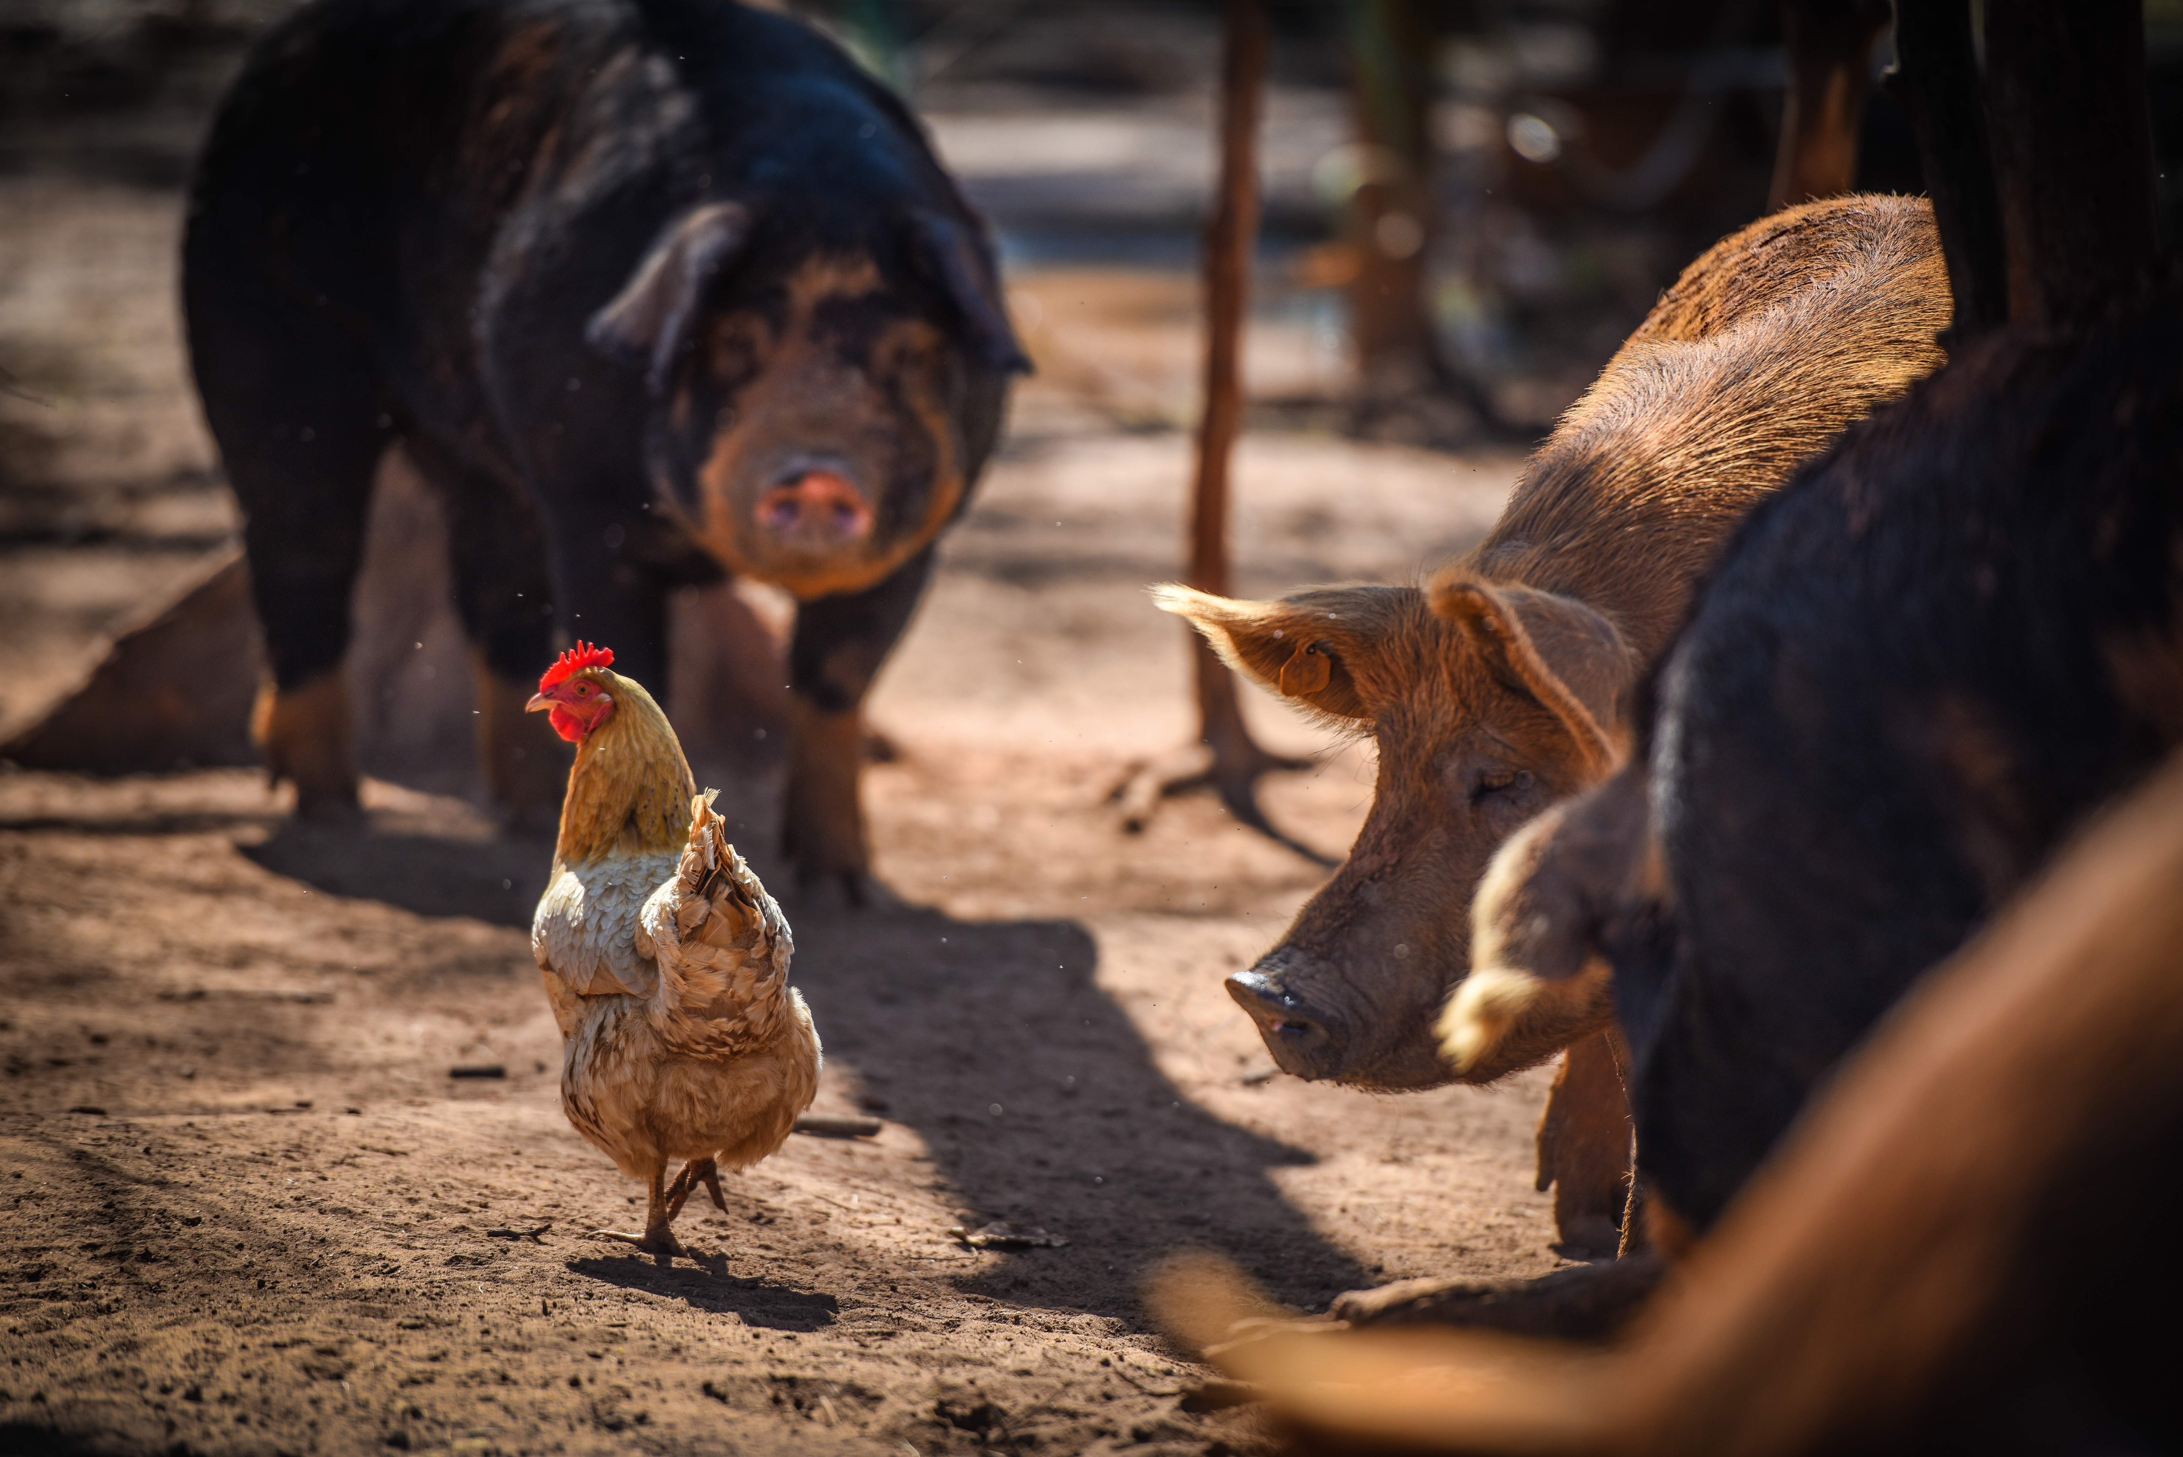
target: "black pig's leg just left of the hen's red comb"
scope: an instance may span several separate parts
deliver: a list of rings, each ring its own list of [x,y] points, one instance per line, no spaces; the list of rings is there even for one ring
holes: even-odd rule
[[[469,636],[485,782],[509,828],[550,830],[568,786],[568,747],[539,714],[524,712],[552,662],[552,579],[537,507],[517,485],[437,441],[410,437],[404,448],[448,509],[448,564]]]

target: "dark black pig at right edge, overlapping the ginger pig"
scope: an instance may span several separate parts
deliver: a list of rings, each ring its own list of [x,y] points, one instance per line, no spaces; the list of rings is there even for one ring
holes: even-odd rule
[[[1987,336],[1759,507],[1648,751],[1480,896],[1463,1057],[1596,996],[1670,1247],[1840,1057],[2183,743],[2183,293]],[[1620,850],[1613,845],[1620,843]]]

